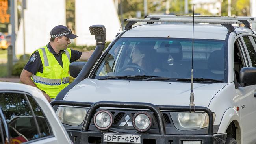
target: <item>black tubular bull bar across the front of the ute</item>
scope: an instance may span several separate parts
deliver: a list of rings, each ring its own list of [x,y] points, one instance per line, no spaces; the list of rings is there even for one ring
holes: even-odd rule
[[[96,109],[100,107],[115,107],[115,108],[132,108],[132,109],[149,109],[156,114],[158,120],[158,129],[160,135],[165,135],[165,126],[163,121],[163,111],[190,111],[190,106],[172,106],[172,105],[153,105],[151,103],[139,103],[139,102],[114,102],[114,101],[100,101],[96,103],[91,102],[75,102],[75,101],[64,101],[54,100],[50,103],[52,107],[54,105],[69,105],[69,106],[80,106],[89,107],[88,112],[83,121],[82,131],[88,131],[92,116]],[[207,107],[195,107],[195,111],[204,111],[209,116],[208,135],[213,135],[213,113]]]

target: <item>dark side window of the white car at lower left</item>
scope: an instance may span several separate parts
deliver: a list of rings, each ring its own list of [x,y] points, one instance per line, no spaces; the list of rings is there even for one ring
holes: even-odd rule
[[[0,106],[4,112],[13,142],[16,140],[27,142],[51,135],[45,116],[31,96],[4,92],[0,93],[0,99]]]

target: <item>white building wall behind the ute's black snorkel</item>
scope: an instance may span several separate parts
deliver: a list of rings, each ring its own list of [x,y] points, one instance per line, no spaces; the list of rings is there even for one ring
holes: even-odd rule
[[[96,44],[95,36],[89,31],[89,26],[94,24],[106,27],[106,41],[115,38],[121,24],[113,0],[76,0],[75,5],[77,45]]]

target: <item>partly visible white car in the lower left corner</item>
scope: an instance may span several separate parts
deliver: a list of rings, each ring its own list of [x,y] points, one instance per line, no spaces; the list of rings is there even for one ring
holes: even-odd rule
[[[72,144],[41,90],[0,82],[0,144]]]

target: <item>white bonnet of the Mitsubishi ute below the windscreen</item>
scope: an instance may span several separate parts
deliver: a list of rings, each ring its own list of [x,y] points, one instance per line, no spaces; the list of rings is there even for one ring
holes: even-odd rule
[[[208,107],[226,83],[194,83],[195,105]],[[191,83],[84,79],[63,100],[78,102],[147,102],[155,105],[186,105]]]

